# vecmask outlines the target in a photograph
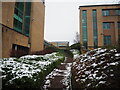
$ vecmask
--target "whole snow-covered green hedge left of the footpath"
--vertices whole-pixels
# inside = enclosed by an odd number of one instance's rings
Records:
[[[40,88],[45,76],[64,61],[60,53],[0,60],[3,88]]]

